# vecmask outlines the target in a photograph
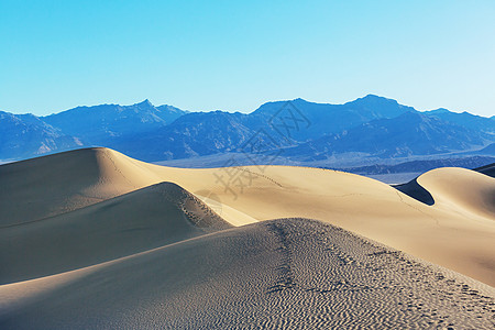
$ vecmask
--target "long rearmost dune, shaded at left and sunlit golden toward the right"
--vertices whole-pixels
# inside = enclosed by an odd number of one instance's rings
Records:
[[[468,169],[431,173],[418,178],[436,201],[428,206],[381,182],[336,170],[174,168],[107,148],[80,150],[0,166],[0,185],[7,187],[0,193],[0,223],[42,219],[170,182],[235,226],[316,219],[495,285],[495,179]]]

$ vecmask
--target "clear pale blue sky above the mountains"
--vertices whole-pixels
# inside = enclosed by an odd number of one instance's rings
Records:
[[[0,0],[0,110],[249,112],[366,94],[495,114],[495,1]]]

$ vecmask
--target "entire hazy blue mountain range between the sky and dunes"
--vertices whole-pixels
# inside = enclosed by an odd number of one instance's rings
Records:
[[[344,105],[267,102],[248,114],[189,112],[148,100],[46,117],[0,112],[2,161],[106,146],[147,162],[233,153],[330,163],[334,157],[495,155],[494,143],[495,117],[420,112],[374,95]]]

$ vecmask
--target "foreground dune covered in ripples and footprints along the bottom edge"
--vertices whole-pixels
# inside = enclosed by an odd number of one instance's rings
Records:
[[[304,219],[234,228],[77,272],[0,286],[8,301],[0,328],[495,326],[493,288]],[[59,276],[72,278],[29,296]]]

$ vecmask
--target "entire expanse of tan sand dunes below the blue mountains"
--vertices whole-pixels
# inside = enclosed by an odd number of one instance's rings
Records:
[[[89,148],[2,165],[0,187],[2,329],[493,326],[495,179],[473,170],[403,194]]]

